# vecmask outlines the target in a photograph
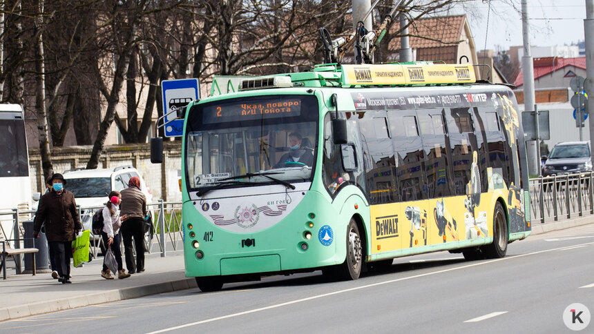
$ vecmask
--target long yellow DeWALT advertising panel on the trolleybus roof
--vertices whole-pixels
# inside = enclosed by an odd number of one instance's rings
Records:
[[[432,83],[472,83],[471,65],[343,65],[343,86],[415,85]]]

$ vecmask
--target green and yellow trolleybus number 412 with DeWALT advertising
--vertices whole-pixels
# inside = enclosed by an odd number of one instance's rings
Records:
[[[186,276],[202,291],[318,269],[357,279],[439,250],[504,257],[530,234],[516,99],[472,66],[218,77],[187,106],[182,145]]]

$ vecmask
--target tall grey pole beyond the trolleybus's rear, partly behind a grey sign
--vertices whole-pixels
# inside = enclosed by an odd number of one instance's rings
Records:
[[[528,26],[528,0],[521,0],[521,31],[524,39],[524,56],[521,57],[522,79],[524,80],[524,111],[535,108],[534,97],[534,65],[530,55],[530,27]],[[538,117],[536,115],[535,117]],[[540,157],[536,141],[526,141],[528,155],[528,174],[540,175]]]

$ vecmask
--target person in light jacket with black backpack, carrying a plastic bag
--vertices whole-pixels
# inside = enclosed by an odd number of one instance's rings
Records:
[[[119,216],[119,204],[122,202],[122,195],[117,191],[112,191],[108,195],[109,202],[107,202],[102,210],[103,215],[103,228],[101,230],[101,237],[103,238],[104,245],[111,246],[111,251],[115,255],[117,262],[117,278],[123,279],[130,277],[129,273],[126,273],[124,266],[122,265],[122,251],[119,249],[119,227],[122,226],[122,221],[126,220],[126,215]],[[93,217],[95,218],[95,217]],[[93,228],[97,227],[97,223],[93,219]],[[115,274],[115,273],[114,273]],[[101,271],[101,277],[104,279],[113,279],[109,268],[105,264],[105,257],[103,262],[103,270]]]

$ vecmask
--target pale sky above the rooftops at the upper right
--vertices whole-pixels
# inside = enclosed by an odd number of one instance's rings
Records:
[[[454,10],[466,12],[477,51],[523,44],[521,0],[490,0],[490,10],[488,0],[472,0]],[[584,40],[586,0],[528,0],[528,18],[531,46],[577,43]]]

